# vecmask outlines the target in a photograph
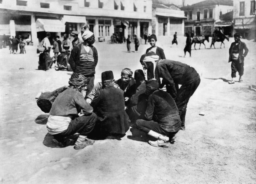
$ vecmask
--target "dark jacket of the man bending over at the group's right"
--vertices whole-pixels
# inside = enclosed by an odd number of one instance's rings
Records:
[[[161,59],[157,61],[156,78],[160,81],[163,78],[161,87],[164,84],[170,85],[172,97],[177,96],[178,85],[189,85],[200,79],[195,68],[190,67],[182,62]]]

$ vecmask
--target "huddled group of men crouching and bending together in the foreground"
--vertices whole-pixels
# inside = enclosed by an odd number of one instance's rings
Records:
[[[85,94],[88,78],[74,72],[69,88],[52,104],[47,122],[49,134],[65,146],[67,136],[79,133],[75,149],[93,144],[95,139],[119,139],[130,125],[157,138],[155,147],[168,147],[180,130],[185,130],[186,107],[200,84],[194,68],[182,62],[159,59],[154,52],[140,58],[147,70],[125,68],[121,79],[112,71],[102,73],[102,82]],[[181,85],[179,87],[179,85]],[[166,91],[161,90],[166,86]],[[90,139],[89,139],[89,138]]]

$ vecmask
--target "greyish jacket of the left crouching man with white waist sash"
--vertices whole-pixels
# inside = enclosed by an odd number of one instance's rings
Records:
[[[82,93],[72,88],[67,88],[62,93],[59,93],[53,102],[50,115],[75,117],[81,110],[83,110],[84,114],[93,112],[93,108],[85,101]]]

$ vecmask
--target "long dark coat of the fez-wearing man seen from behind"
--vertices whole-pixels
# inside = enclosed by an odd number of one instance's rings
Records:
[[[124,135],[129,130],[124,92],[121,89],[108,85],[96,93],[91,106],[98,116],[102,133]]]

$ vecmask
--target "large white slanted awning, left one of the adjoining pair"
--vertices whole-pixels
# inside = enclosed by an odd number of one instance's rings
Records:
[[[65,32],[65,25],[60,20],[37,19],[35,22],[36,31]]]

